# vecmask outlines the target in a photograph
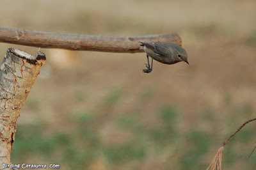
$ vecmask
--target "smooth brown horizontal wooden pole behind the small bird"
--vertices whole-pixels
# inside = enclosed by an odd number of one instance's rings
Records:
[[[46,33],[0,27],[0,42],[41,48],[93,50],[101,52],[143,52],[139,42],[173,42],[182,45],[177,33],[151,36],[93,36]]]

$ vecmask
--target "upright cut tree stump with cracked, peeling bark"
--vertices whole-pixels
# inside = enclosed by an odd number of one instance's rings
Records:
[[[31,56],[17,49],[8,49],[0,67],[0,169],[10,165],[17,118],[28,97],[45,55]]]

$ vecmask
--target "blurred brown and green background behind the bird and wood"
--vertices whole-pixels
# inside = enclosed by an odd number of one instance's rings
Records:
[[[256,117],[256,1],[1,1],[1,26],[104,36],[176,32],[186,63],[143,73],[145,53],[41,49],[47,65],[18,119],[15,164],[61,169],[206,169]],[[1,59],[15,47],[0,43]],[[225,146],[225,169],[256,169],[256,125]]]

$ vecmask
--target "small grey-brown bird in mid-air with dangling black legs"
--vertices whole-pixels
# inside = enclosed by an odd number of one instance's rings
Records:
[[[173,65],[179,63],[180,61],[185,61],[188,63],[188,54],[179,45],[172,42],[140,42],[141,48],[147,53],[148,56],[152,58],[151,66],[145,63],[147,69],[143,69],[144,73],[150,73],[152,71],[153,59],[164,63],[166,65]],[[189,65],[189,63],[188,63]]]

